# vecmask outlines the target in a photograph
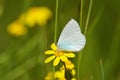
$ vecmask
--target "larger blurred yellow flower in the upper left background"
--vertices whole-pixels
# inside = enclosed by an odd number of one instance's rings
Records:
[[[47,7],[32,7],[26,13],[23,13],[19,20],[30,27],[36,24],[45,26],[47,21],[52,17],[52,12]]]

